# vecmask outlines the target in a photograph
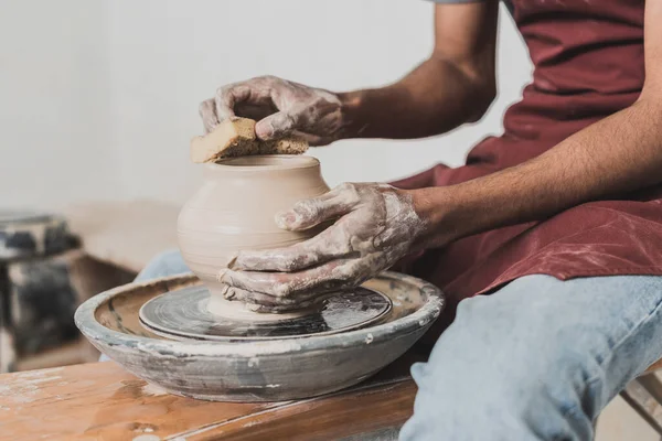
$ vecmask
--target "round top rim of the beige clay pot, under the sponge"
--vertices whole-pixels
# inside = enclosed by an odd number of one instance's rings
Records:
[[[317,158],[303,154],[254,154],[249,157],[226,158],[216,163],[205,164],[205,166],[209,170],[222,171],[223,173],[261,172],[319,168],[320,161]]]

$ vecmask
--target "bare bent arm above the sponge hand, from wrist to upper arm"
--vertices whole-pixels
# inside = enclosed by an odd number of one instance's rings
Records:
[[[345,138],[421,138],[480,119],[496,94],[499,3],[437,4],[435,49],[399,82],[340,94]]]

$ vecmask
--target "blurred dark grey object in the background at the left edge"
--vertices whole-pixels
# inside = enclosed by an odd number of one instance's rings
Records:
[[[62,217],[0,211],[0,372],[77,338],[73,313],[82,299],[58,258],[77,246]]]

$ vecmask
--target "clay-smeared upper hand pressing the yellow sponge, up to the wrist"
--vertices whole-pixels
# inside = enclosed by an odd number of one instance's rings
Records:
[[[222,86],[200,105],[205,132],[233,116],[257,120],[255,133],[269,140],[297,135],[311,146],[339,139],[343,127],[341,101],[328,90],[260,76]]]

